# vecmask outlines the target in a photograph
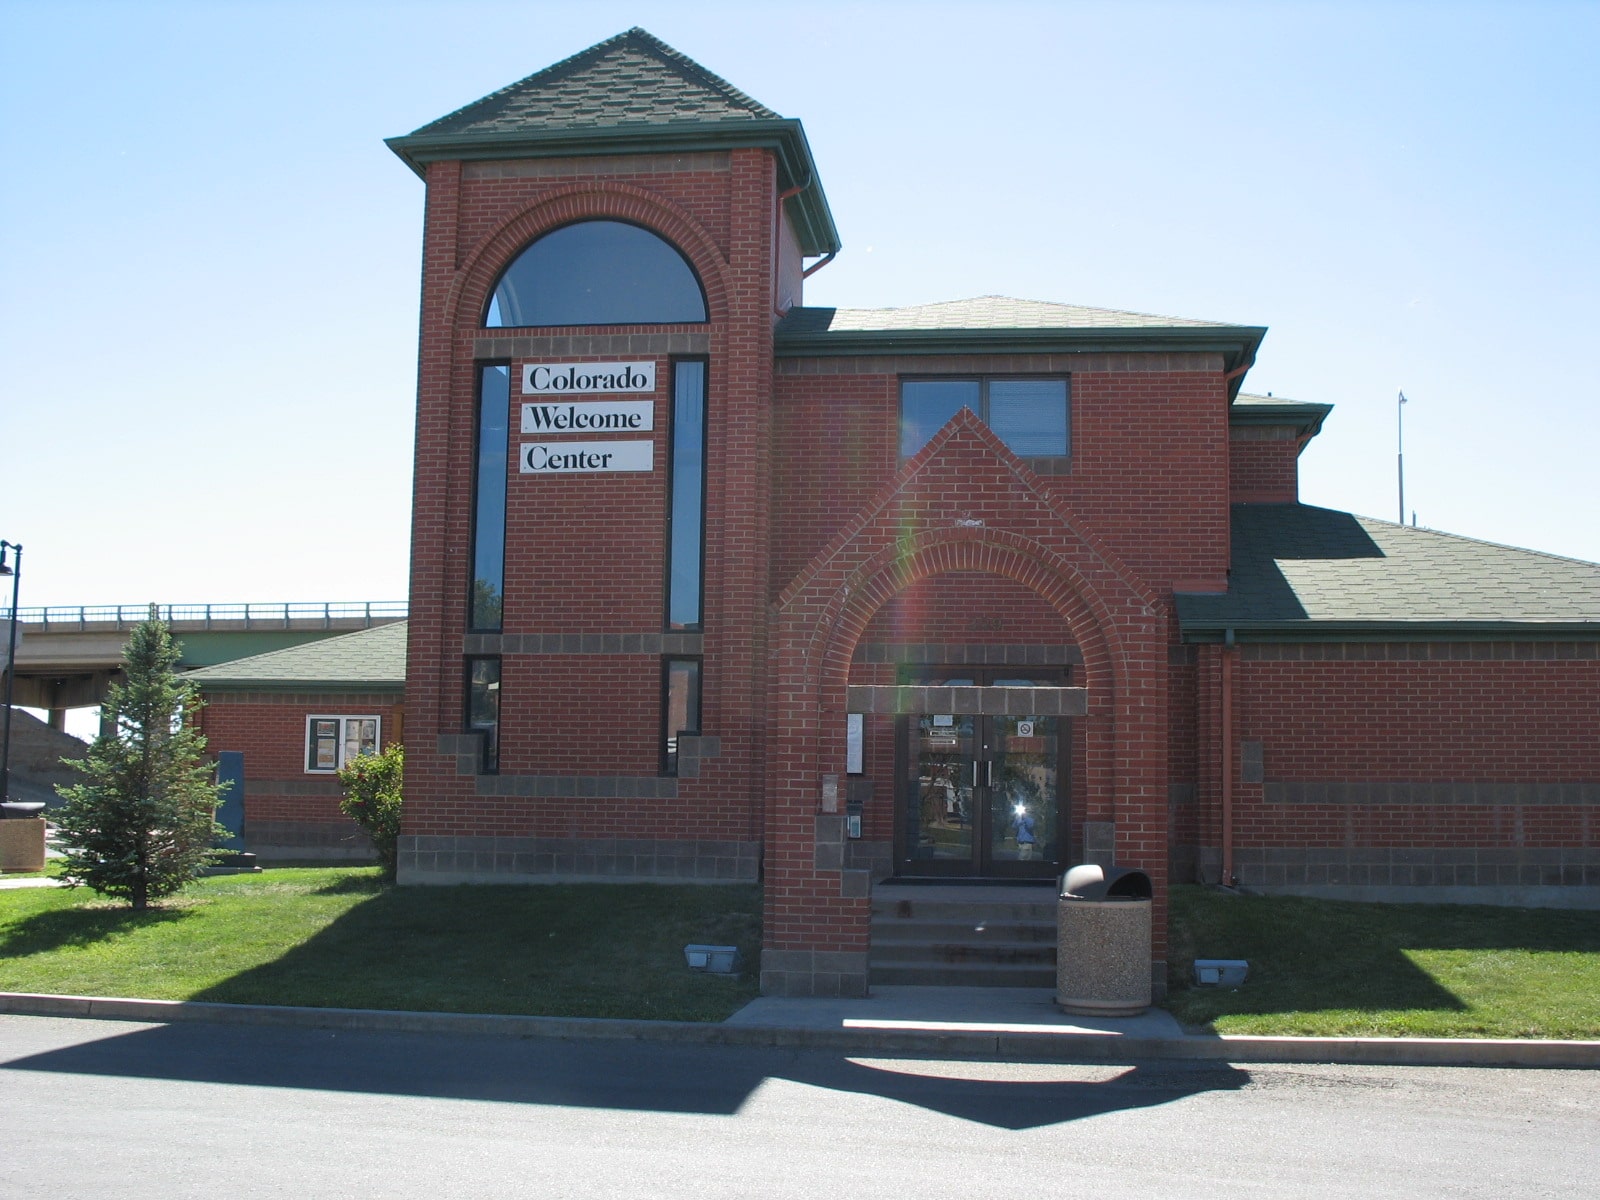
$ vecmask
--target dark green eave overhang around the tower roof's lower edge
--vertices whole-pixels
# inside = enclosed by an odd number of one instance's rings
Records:
[[[739,122],[682,122],[619,125],[589,130],[515,130],[507,133],[408,133],[386,138],[413,171],[427,179],[429,163],[502,158],[570,158],[606,154],[693,154],[698,150],[771,150],[778,160],[778,190],[800,190],[784,211],[806,258],[840,250],[834,214],[822,194],[811,146],[790,117]]]

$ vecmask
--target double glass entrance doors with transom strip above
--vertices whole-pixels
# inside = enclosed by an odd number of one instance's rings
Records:
[[[1059,675],[918,672],[934,686],[1061,686]],[[901,717],[896,874],[1048,877],[1061,864],[1062,717]]]

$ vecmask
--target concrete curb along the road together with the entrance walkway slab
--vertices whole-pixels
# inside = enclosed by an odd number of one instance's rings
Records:
[[[1600,1067],[1600,1042],[1490,1038],[1216,1037],[1186,1034],[1152,1010],[1122,1021],[1051,1011],[1048,989],[883,987],[866,1000],[763,997],[722,1024],[608,1021],[366,1008],[216,1005],[0,992],[0,1013],[106,1021],[210,1021],[307,1029],[613,1038],[718,1046],[790,1046],[848,1054],[917,1054],[1021,1062],[1365,1062],[1462,1067]]]

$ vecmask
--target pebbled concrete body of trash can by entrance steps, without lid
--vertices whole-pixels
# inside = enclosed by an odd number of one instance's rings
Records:
[[[1075,1016],[1138,1016],[1150,1006],[1150,901],[1061,899],[1056,1005]]]

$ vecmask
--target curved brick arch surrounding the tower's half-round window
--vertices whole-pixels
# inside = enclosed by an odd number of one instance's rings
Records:
[[[715,240],[685,210],[670,200],[629,184],[574,184],[541,195],[526,208],[506,218],[462,261],[445,298],[450,328],[459,328],[461,314],[472,314],[474,328],[488,304],[494,280],[530,243],[574,221],[627,221],[643,226],[677,246],[694,267],[706,290],[707,323],[728,315],[728,261]]]

